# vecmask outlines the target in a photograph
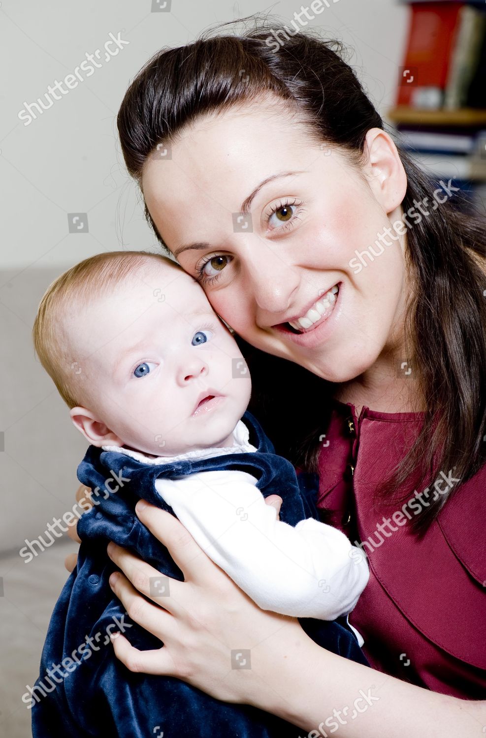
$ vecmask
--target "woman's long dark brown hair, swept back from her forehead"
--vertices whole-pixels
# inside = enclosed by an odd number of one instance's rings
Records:
[[[241,35],[223,35],[228,24],[222,24],[217,35],[205,32],[194,43],[160,50],[134,78],[117,127],[126,166],[139,184],[157,144],[174,140],[196,117],[251,105],[269,94],[299,112],[311,137],[339,145],[352,165],[366,157],[366,132],[383,128],[383,121],[344,61],[340,44],[324,41],[315,31],[285,31],[256,16],[238,22],[244,21],[254,26]],[[426,197],[431,201],[434,186],[403,152],[401,159],[408,179],[403,210],[408,211]],[[419,376],[427,410],[414,446],[404,450],[403,460],[377,491],[395,504],[394,493],[412,476],[417,480],[417,469],[423,470],[420,482],[431,483],[440,470],[447,474],[450,469],[465,482],[485,463],[485,231],[479,220],[462,215],[450,202],[430,212],[408,230],[406,252],[414,277],[407,358]],[[147,207],[145,213],[168,251]],[[298,365],[257,351],[242,339],[239,343],[253,377],[250,409],[278,452],[315,470],[332,387]],[[411,497],[411,490],[406,492],[403,500]],[[437,517],[448,494],[414,518],[417,533]]]

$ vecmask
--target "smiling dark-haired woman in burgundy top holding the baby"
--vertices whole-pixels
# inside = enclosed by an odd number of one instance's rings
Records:
[[[256,415],[278,452],[320,470],[318,506],[369,556],[349,622],[374,671],[259,610],[177,520],[141,505],[185,582],[162,609],[155,570],[110,545],[114,592],[165,644],[137,652],[120,635],[117,657],[309,736],[482,734],[482,227],[455,210],[451,182],[434,190],[398,154],[310,32],[159,52],[117,123],[157,238],[242,341]],[[251,669],[229,668],[233,648]]]

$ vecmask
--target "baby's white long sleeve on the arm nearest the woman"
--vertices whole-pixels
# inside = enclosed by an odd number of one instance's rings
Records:
[[[263,610],[334,620],[351,612],[366,587],[369,568],[360,549],[318,520],[295,527],[277,520],[247,472],[159,478],[155,489],[206,554]]]

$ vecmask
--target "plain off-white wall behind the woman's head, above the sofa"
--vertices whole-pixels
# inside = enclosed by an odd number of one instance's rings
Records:
[[[309,26],[355,47],[352,63],[382,113],[391,106],[404,44],[407,9],[395,0],[338,0]],[[310,2],[307,3],[307,6]],[[270,4],[268,7],[272,7]],[[289,24],[301,5],[273,5]],[[172,0],[151,13],[151,0],[34,0],[1,4],[0,267],[69,266],[103,249],[146,248],[154,242],[117,146],[115,118],[129,80],[150,55],[192,41],[217,21],[264,10],[261,0]],[[129,44],[61,97],[30,125],[24,103],[42,97],[101,49],[109,32]],[[67,213],[88,213],[89,233],[69,234]],[[21,279],[21,275],[16,277]]]

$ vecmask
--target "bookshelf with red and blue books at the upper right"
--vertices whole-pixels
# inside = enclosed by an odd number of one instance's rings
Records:
[[[408,37],[386,114],[397,143],[432,180],[486,207],[486,2],[397,0]]]

